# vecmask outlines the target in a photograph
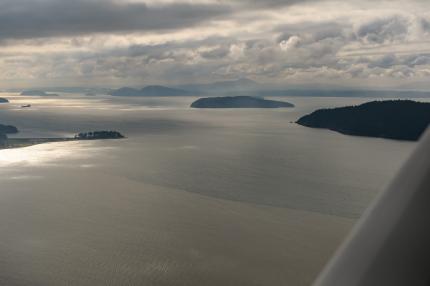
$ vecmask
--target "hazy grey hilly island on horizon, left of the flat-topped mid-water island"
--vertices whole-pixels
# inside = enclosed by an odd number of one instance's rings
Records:
[[[149,85],[142,89],[131,87],[122,87],[110,92],[112,96],[187,96],[191,95],[189,91],[170,88],[161,85]]]

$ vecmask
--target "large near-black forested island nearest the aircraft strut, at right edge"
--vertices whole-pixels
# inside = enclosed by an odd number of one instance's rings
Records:
[[[416,141],[430,124],[430,103],[372,101],[358,106],[320,109],[298,124],[347,135]]]

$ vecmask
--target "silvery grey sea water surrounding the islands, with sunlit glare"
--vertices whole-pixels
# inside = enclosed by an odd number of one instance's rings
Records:
[[[416,145],[293,123],[366,98],[2,97],[18,137],[127,136],[0,150],[4,285],[309,285]]]

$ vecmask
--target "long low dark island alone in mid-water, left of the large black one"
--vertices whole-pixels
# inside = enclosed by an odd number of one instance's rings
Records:
[[[252,96],[205,97],[194,101],[192,108],[282,108],[294,107],[284,101],[268,100]]]

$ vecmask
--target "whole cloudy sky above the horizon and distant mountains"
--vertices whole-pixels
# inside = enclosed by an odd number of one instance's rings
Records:
[[[428,0],[0,0],[0,88],[430,90]]]

